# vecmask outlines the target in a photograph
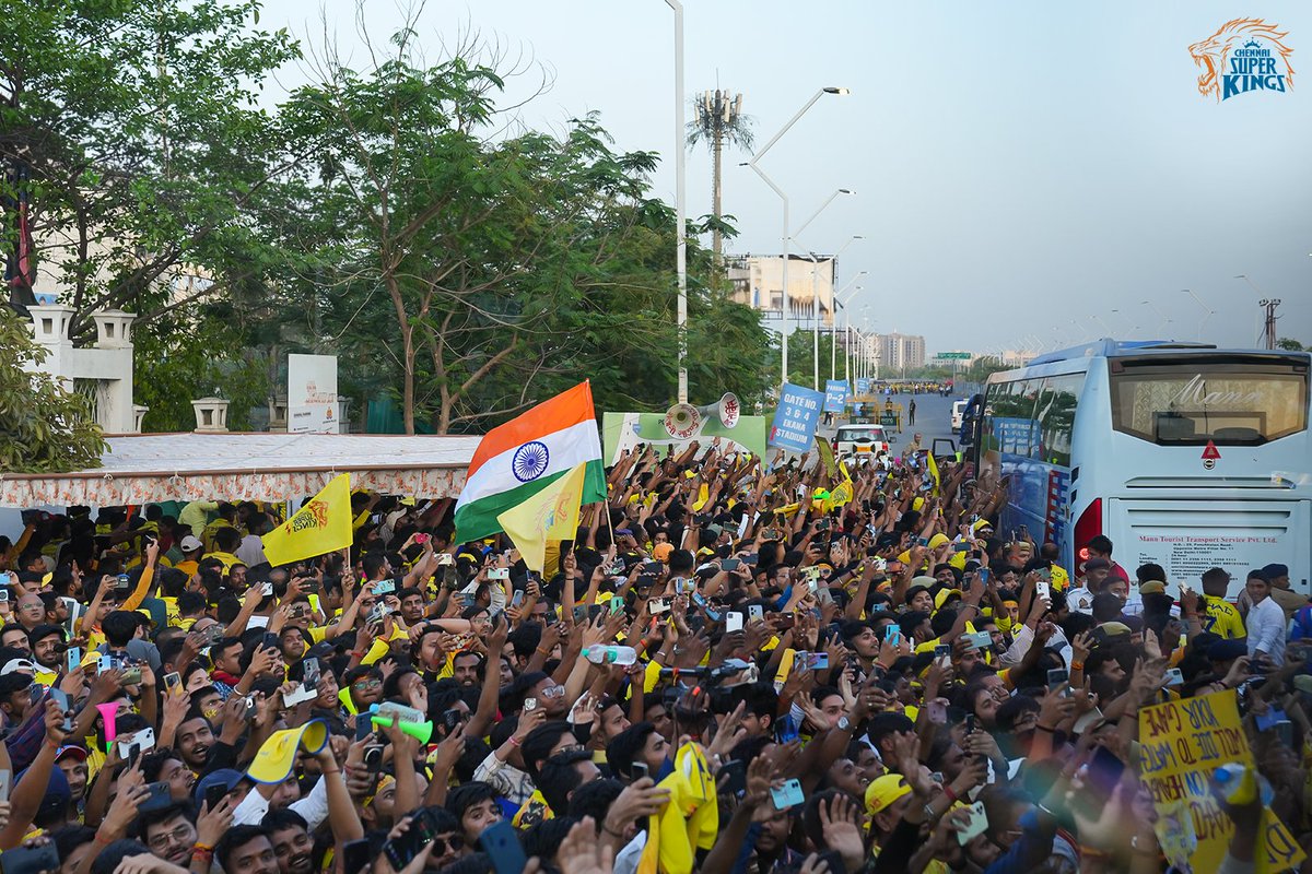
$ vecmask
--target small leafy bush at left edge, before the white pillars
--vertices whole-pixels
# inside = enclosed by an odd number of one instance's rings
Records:
[[[0,470],[62,473],[98,468],[105,449],[91,401],[47,373],[28,372],[46,350],[25,318],[0,307]]]

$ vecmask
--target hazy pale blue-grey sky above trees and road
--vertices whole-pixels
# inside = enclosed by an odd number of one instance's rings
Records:
[[[1215,311],[1204,339],[1252,346],[1261,295],[1235,278],[1248,274],[1283,299],[1279,334],[1312,343],[1312,4],[685,3],[687,96],[743,92],[758,144],[819,88],[851,89],[817,102],[762,166],[794,227],[836,189],[857,191],[803,242],[866,237],[838,284],[869,271],[851,312],[875,329],[924,334],[930,351],[1051,347],[1105,335],[1097,314],[1118,337],[1194,339],[1191,288]],[[386,38],[399,8],[367,0],[370,34]],[[353,0],[269,4],[262,24],[318,43],[321,10],[362,67]],[[1288,31],[1294,88],[1203,98],[1189,46],[1244,16]],[[433,56],[474,28],[546,68],[529,126],[597,110],[618,148],[672,156],[673,18],[664,0],[429,0],[419,31]],[[510,98],[535,84],[517,79]],[[779,200],[743,160],[726,159],[724,210],[741,231],[729,248],[778,252]],[[672,160],[653,183],[673,202]],[[697,149],[687,212],[710,208]]]

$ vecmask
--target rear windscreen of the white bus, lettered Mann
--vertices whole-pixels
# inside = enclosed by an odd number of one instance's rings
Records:
[[[1111,426],[1157,446],[1261,446],[1308,426],[1308,368],[1232,356],[1117,358]]]

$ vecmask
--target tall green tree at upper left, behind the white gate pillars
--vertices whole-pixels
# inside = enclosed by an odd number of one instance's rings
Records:
[[[152,425],[180,423],[164,406],[214,388],[182,379],[207,379],[203,367],[165,376],[157,356],[186,351],[180,332],[195,330],[203,301],[273,294],[283,253],[270,228],[297,220],[279,183],[297,156],[256,101],[298,51],[260,30],[258,12],[257,0],[50,0],[0,16],[0,164],[26,173],[37,291],[75,309],[76,345],[94,341],[94,311],[138,314]],[[0,194],[18,194],[5,178]],[[180,398],[152,389],[164,379]]]

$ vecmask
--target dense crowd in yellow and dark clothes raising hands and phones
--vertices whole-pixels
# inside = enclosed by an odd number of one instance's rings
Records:
[[[1305,846],[1288,571],[1064,567],[971,474],[640,448],[541,574],[445,499],[356,494],[349,550],[281,567],[258,503],[30,512],[0,867],[1160,871],[1139,713],[1228,689],[1266,791],[1212,788],[1224,870],[1262,815]]]

